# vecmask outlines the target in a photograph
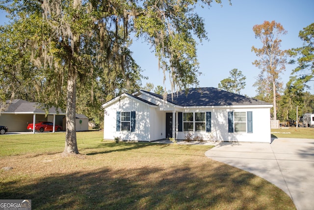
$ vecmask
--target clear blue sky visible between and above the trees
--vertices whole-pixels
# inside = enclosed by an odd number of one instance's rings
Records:
[[[198,9],[198,13],[205,19],[209,41],[204,40],[198,44],[198,61],[200,71],[200,87],[218,87],[221,80],[229,77],[230,70],[237,68],[246,76],[246,87],[241,94],[255,96],[255,88],[252,87],[260,69],[252,65],[256,55],[251,48],[261,47],[262,43],[255,39],[252,30],[254,25],[262,24],[265,20],[275,20],[281,23],[288,31],[283,35],[282,50],[302,46],[298,37],[299,31],[314,23],[314,0],[232,0],[232,6],[228,0],[222,0],[223,7],[213,2],[209,9]],[[0,10],[0,24],[5,22],[5,13]],[[163,85],[163,73],[158,70],[157,58],[146,43],[142,40],[133,40],[131,46],[133,58],[141,66],[142,74],[149,77],[143,80],[157,85]],[[286,71],[281,79],[286,84],[291,70],[295,66],[287,64]],[[309,90],[314,94],[314,82]],[[285,86],[285,85],[284,85]],[[166,79],[165,87],[170,89],[169,79]]]

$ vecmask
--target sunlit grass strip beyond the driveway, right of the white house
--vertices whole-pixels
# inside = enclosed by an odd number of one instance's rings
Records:
[[[284,127],[271,129],[272,138],[301,138],[314,139],[314,128],[311,127]]]

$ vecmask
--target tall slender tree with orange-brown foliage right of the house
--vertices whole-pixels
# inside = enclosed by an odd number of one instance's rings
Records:
[[[260,58],[260,60],[255,60],[253,64],[261,69],[262,78],[267,83],[266,87],[271,89],[274,105],[273,120],[277,120],[276,96],[278,93],[277,88],[281,85],[279,74],[286,69],[285,64],[287,63],[287,52],[280,49],[281,39],[279,37],[286,34],[287,31],[280,23],[275,21],[264,21],[261,25],[255,25],[253,31],[255,38],[260,39],[262,42],[262,48],[252,46],[252,52]]]

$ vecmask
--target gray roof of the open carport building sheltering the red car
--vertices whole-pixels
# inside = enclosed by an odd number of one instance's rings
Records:
[[[6,101],[7,108],[3,113],[46,113],[46,111],[40,108],[40,104],[37,102],[28,102],[22,99],[14,99],[12,101]],[[54,107],[48,110],[49,113],[56,113]],[[64,114],[60,109],[58,109],[59,114]]]

